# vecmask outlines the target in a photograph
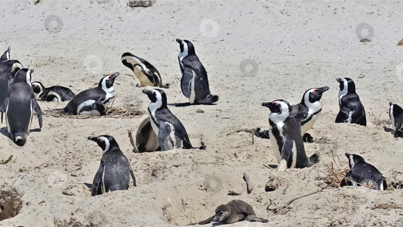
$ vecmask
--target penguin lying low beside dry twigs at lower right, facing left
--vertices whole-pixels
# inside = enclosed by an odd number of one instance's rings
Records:
[[[375,190],[384,190],[386,188],[386,180],[373,165],[366,163],[364,158],[360,155],[346,153],[350,171],[347,173],[346,178],[349,186],[371,186]],[[371,182],[371,183],[370,183]]]

